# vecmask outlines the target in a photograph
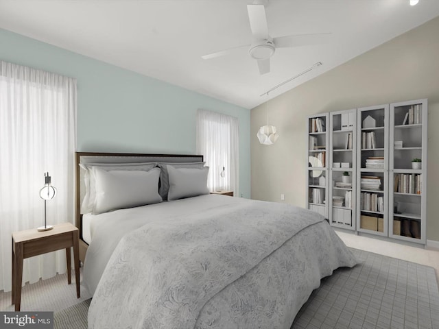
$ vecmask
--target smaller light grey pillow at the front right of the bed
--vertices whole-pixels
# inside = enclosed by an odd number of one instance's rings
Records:
[[[203,167],[202,169],[174,168],[169,164],[166,167],[169,177],[168,200],[209,194],[209,188],[207,188],[209,167]]]

